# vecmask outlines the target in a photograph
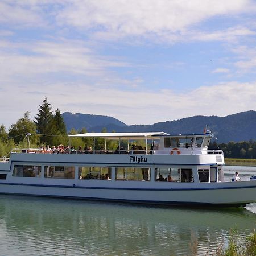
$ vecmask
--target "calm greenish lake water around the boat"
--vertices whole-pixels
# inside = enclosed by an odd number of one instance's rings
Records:
[[[242,180],[256,167],[225,166]],[[90,201],[0,195],[0,255],[199,255],[226,245],[230,228],[240,238],[256,229],[256,204],[246,208],[145,207]]]

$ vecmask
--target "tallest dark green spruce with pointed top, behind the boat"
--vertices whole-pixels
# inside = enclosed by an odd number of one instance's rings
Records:
[[[36,131],[41,135],[40,143],[42,144],[52,144],[51,135],[56,135],[56,125],[50,105],[47,102],[47,97],[44,98],[43,104],[39,108],[39,114],[36,114],[34,121]]]

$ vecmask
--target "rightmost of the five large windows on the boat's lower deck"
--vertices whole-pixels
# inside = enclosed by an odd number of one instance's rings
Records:
[[[193,182],[192,169],[155,168],[155,181]]]

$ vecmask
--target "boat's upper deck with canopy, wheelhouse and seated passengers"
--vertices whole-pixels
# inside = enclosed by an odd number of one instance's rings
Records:
[[[25,157],[24,154],[36,154],[37,156],[33,156],[33,159],[50,160],[55,158],[58,159],[59,161],[71,161],[71,159],[76,159],[76,161],[79,162],[81,157],[75,157],[75,155],[87,154],[86,156],[84,155],[82,159],[88,159],[88,161],[92,159],[97,159],[97,162],[101,162],[104,160],[105,163],[138,163],[138,159],[144,158],[147,159],[148,164],[156,162],[173,164],[224,164],[224,156],[221,150],[208,150],[210,139],[212,139],[213,137],[213,134],[210,133],[210,131],[208,131],[205,134],[188,135],[170,135],[163,132],[75,134],[69,135],[69,138],[71,139],[69,144],[72,144],[73,137],[93,137],[94,143],[92,147],[85,147],[84,149],[68,148],[65,150],[43,150],[42,148],[27,148],[23,150],[13,149],[11,153],[13,153],[12,155],[16,155],[15,159],[31,159],[30,156]],[[104,148],[96,149],[95,138],[97,137],[105,139]],[[118,141],[118,147],[115,150],[110,150],[109,148],[106,147],[107,140]],[[124,145],[124,143],[121,143],[124,141],[126,146],[121,146]],[[141,144],[144,145],[143,147],[139,146],[140,141],[142,141]],[[18,156],[17,154],[19,153],[23,153],[22,156]],[[48,154],[52,154],[52,156],[49,157]],[[56,154],[58,156],[56,156]],[[67,154],[72,154],[71,158],[67,157]],[[40,157],[40,155],[42,155],[42,157]],[[98,156],[94,155],[101,155],[101,157],[98,158]],[[122,158],[121,156],[117,157],[117,155],[122,155]],[[2,163],[8,161],[9,158],[7,157],[0,159],[0,162]],[[144,163],[146,163],[146,161]]]

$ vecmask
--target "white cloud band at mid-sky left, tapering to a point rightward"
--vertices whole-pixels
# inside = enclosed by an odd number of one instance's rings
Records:
[[[54,72],[103,76],[107,67],[128,65],[96,55],[84,43],[72,40],[31,44],[1,41],[0,53],[2,79],[13,75],[31,77]]]

